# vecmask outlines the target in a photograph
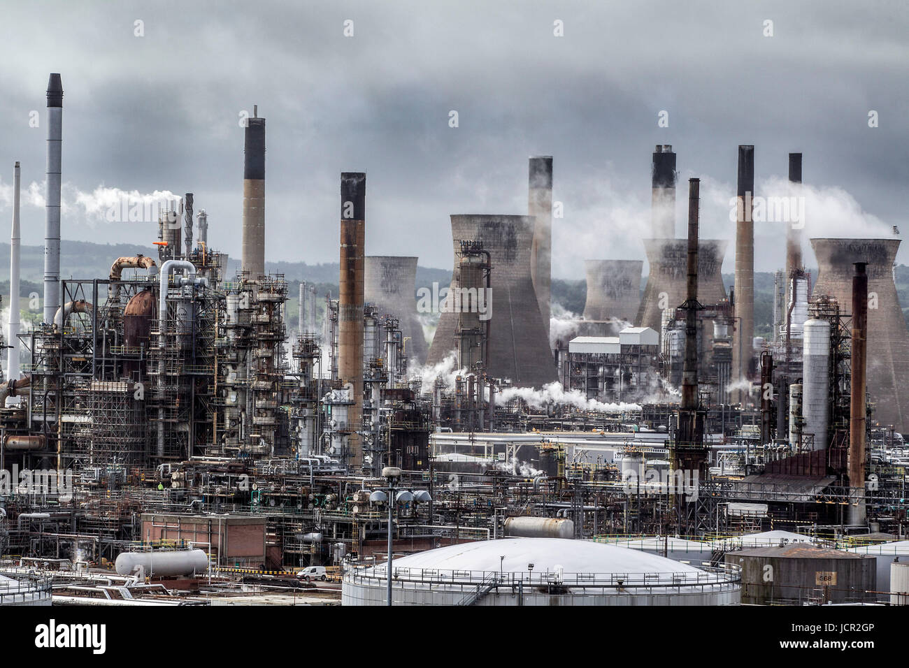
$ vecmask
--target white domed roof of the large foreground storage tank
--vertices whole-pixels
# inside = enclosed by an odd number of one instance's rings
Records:
[[[504,560],[501,557],[504,555]],[[565,538],[502,538],[448,545],[395,559],[395,568],[526,573],[702,573],[686,563],[615,545]]]

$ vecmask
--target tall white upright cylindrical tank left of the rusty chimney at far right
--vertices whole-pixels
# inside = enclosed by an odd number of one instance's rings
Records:
[[[830,397],[830,323],[811,319],[804,324],[802,415],[804,434],[814,434],[814,450],[827,447]]]

